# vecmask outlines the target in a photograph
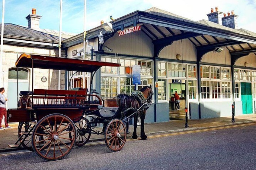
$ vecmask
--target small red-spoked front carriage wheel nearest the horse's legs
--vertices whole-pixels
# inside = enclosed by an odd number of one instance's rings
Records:
[[[105,130],[105,143],[108,149],[119,151],[126,142],[126,128],[120,119],[111,120]]]

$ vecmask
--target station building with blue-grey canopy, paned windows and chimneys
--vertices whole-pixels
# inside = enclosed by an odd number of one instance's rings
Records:
[[[154,7],[135,11],[111,21],[112,32],[105,24],[88,30],[85,47],[83,33],[62,46],[69,58],[82,58],[85,48],[85,59],[121,64],[96,73],[93,88],[104,98],[152,85],[145,122],[184,119],[185,107],[189,119],[232,116],[232,104],[235,115],[255,113],[256,33],[238,29],[234,11],[226,14],[216,7],[209,12],[209,20],[193,21]],[[138,85],[133,84],[133,65],[140,66]],[[73,74],[69,88],[88,87],[88,75]],[[180,110],[175,109],[175,91]]]

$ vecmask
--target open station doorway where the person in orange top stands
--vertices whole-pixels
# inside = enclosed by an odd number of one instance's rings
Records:
[[[185,80],[169,79],[168,80],[169,91],[169,118],[170,120],[185,119],[185,107],[186,107],[186,83]],[[175,106],[174,94],[177,91],[180,97],[180,110]]]

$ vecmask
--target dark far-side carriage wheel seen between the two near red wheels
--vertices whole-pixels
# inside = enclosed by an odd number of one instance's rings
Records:
[[[90,139],[91,133],[88,133],[89,120],[83,117],[78,122],[74,122],[76,127],[76,141],[75,146],[84,146]],[[70,136],[69,136],[70,137]]]

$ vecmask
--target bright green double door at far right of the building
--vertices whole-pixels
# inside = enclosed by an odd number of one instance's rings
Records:
[[[251,83],[241,83],[243,114],[252,113]]]

